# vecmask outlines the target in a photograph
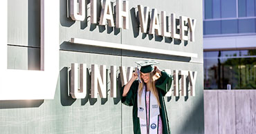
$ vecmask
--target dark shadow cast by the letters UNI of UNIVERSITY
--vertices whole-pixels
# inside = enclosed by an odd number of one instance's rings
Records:
[[[69,75],[68,75],[69,74]],[[81,105],[84,106],[86,103],[89,102],[90,105],[94,105],[97,101],[98,98],[91,98],[91,75],[89,73],[89,69],[86,68],[86,97],[84,99],[81,99]],[[110,73],[109,73],[110,75]],[[71,95],[68,95],[68,89],[71,89],[71,87],[68,87],[68,85],[71,85],[71,81],[69,81],[68,84],[68,79],[71,79],[71,77],[68,78],[68,76],[71,76],[71,71],[68,70],[67,67],[62,68],[60,70],[60,102],[62,106],[71,106],[76,99],[73,99]],[[117,79],[117,89],[120,89],[120,77]],[[107,91],[108,94],[110,94],[110,90]],[[109,95],[107,95],[109,96]],[[109,98],[101,98],[100,103],[104,105]],[[117,97],[113,98],[113,103],[118,104],[120,102],[120,90],[117,92]]]

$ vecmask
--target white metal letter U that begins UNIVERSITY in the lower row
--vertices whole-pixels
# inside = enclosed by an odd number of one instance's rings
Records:
[[[86,69],[86,64],[80,64],[80,68],[78,64],[71,64],[71,96],[74,99],[86,97],[86,70],[84,68]]]

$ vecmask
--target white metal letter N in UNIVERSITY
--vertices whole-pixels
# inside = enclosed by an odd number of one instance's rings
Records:
[[[101,98],[107,98],[106,66],[91,65],[91,98],[97,98],[98,92]]]

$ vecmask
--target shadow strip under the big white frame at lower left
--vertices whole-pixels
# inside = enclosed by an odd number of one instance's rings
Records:
[[[39,100],[1,100],[0,109],[6,108],[37,108],[44,103],[44,99]]]

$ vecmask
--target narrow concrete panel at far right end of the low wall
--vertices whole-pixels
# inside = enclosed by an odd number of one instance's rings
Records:
[[[256,90],[250,90],[250,134],[256,133]]]

